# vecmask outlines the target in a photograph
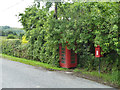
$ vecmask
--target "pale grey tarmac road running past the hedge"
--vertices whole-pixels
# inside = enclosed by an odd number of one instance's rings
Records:
[[[42,68],[0,58],[2,88],[111,88],[60,71]]]

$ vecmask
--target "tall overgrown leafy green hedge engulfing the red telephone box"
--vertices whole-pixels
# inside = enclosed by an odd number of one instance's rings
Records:
[[[54,11],[48,11],[50,4],[46,5],[46,8],[39,9],[39,4],[34,4],[19,14],[29,42],[15,49],[9,44],[12,50],[3,42],[3,47],[9,48],[7,50],[2,47],[3,53],[59,66],[61,43],[63,47],[67,45],[68,49],[78,54],[79,68],[97,70],[98,60],[94,54],[95,46],[100,45],[104,55],[101,58],[101,71],[118,72],[119,3],[57,3],[58,19],[53,17]],[[118,73],[115,75],[117,77]]]

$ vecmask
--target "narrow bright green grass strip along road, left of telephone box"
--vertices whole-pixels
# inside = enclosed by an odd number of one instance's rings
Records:
[[[39,61],[27,60],[24,58],[13,57],[13,56],[5,55],[5,54],[0,54],[0,57],[7,58],[7,59],[12,60],[12,61],[17,61],[17,62],[21,62],[24,64],[32,65],[32,66],[43,67],[43,68],[49,69],[49,70],[59,70],[59,71],[68,70],[66,68],[55,67],[55,66],[52,66],[50,64],[42,63]]]

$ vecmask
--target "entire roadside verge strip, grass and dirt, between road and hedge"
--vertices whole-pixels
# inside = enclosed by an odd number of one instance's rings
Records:
[[[77,68],[76,69],[58,68],[58,67],[54,67],[54,66],[51,66],[49,64],[41,63],[38,61],[12,57],[12,56],[5,55],[5,54],[0,55],[0,57],[7,58],[7,59],[12,60],[12,61],[17,61],[17,62],[21,62],[24,64],[32,65],[32,66],[35,66],[36,68],[43,67],[44,69],[49,70],[49,71],[60,71],[60,72],[63,72],[63,73],[69,74],[69,75],[82,77],[85,79],[89,79],[92,81],[96,81],[98,83],[102,83],[104,85],[109,85],[111,87],[115,87],[115,88],[120,89],[120,86],[118,86],[117,84],[113,84],[108,80],[105,80],[106,76],[103,75],[102,73],[99,75],[98,72],[96,72],[96,71],[88,72],[84,69],[77,69]],[[94,75],[93,75],[93,73],[94,73]],[[107,77],[110,78],[110,75],[107,75]]]

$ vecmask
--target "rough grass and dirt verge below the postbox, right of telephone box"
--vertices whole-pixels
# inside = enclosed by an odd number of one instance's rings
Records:
[[[80,77],[90,79],[90,80],[120,89],[120,83],[118,81],[118,72],[98,73],[98,71],[87,71],[85,69],[78,69],[78,68],[74,69],[73,72],[75,72],[76,75],[77,73],[81,73],[82,76]]]

